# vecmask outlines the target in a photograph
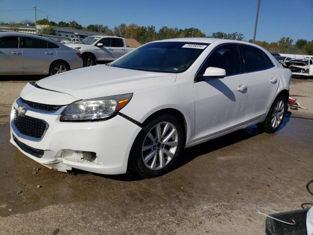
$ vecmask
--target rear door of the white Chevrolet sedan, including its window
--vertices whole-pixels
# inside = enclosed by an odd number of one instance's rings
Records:
[[[246,120],[264,115],[279,85],[279,72],[266,53],[257,47],[241,45],[248,86]]]

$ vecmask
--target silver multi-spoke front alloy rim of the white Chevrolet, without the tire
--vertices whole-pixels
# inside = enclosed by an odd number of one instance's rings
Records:
[[[170,122],[157,123],[146,135],[142,145],[142,160],[152,170],[164,168],[178,149],[177,128]]]

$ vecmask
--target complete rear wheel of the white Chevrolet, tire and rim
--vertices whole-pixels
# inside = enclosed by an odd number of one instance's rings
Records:
[[[270,107],[265,121],[257,124],[258,129],[266,133],[276,132],[284,120],[287,108],[288,106],[285,96],[278,96]]]

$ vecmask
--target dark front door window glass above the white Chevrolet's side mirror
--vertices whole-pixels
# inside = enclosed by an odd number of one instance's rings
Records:
[[[216,48],[203,65],[200,74],[203,74],[208,67],[224,69],[226,76],[243,72],[238,46],[228,44]]]

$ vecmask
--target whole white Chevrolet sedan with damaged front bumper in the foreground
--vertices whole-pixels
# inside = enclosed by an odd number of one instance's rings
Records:
[[[254,44],[156,41],[110,65],[28,83],[12,107],[10,142],[64,172],[156,177],[183,148],[253,124],[278,130],[290,80],[291,71]]]

